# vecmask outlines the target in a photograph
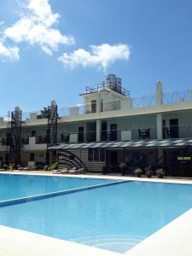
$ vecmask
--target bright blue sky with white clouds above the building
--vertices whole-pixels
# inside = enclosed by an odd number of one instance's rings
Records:
[[[192,88],[191,0],[0,0],[0,114],[82,103],[106,73],[131,96]],[[91,45],[95,47],[91,48]]]

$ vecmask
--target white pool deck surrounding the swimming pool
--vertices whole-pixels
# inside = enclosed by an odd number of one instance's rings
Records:
[[[0,172],[18,173],[18,172]],[[53,175],[22,172],[27,175]],[[56,175],[60,176],[60,175]],[[61,175],[63,177],[63,175]],[[68,175],[67,175],[68,176]],[[72,177],[73,175],[70,175]],[[77,177],[77,175],[75,175]],[[108,175],[78,175],[78,177],[102,177],[160,183],[192,184],[191,179],[114,177]],[[13,212],[14,218],[14,212]],[[191,256],[192,255],[192,209],[174,219],[162,229],[148,236],[128,252],[113,253],[96,247],[41,236],[24,230],[0,226],[0,256]]]

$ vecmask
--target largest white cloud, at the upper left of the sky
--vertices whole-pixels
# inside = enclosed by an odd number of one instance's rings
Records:
[[[21,15],[14,26],[4,31],[7,38],[15,43],[38,44],[45,53],[52,55],[60,44],[74,44],[74,38],[62,35],[53,26],[58,23],[59,15],[53,14],[49,0],[29,0],[23,2],[26,13]]]

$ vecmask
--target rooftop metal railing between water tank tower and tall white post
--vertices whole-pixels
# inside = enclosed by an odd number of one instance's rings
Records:
[[[156,94],[132,98],[132,108],[154,107],[156,105]]]

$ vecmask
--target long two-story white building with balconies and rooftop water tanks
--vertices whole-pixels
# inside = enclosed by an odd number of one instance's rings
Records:
[[[57,110],[53,101],[48,113],[15,108],[10,117],[0,118],[1,163],[14,155],[12,161],[41,167],[49,152],[61,167],[85,166],[90,172],[102,172],[104,164],[119,172],[126,162],[192,176],[191,90],[165,93],[159,81],[155,94],[131,97],[121,79],[108,74],[81,96],[81,106]]]

